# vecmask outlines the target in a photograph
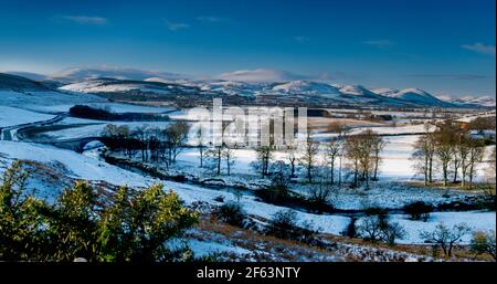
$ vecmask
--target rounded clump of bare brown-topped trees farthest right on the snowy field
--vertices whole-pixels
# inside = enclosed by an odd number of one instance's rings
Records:
[[[484,159],[485,143],[474,138],[467,128],[450,120],[437,125],[433,133],[429,129],[426,125],[426,134],[415,143],[413,154],[424,183],[434,182],[435,173],[440,172],[444,186],[461,181],[462,187],[472,188],[477,165]]]

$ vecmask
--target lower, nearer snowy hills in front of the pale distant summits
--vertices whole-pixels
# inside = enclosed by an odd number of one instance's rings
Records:
[[[475,107],[495,106],[495,99],[446,98],[441,99],[423,90],[393,88],[370,90],[362,85],[329,84],[326,82],[297,80],[288,82],[243,82],[226,80],[187,80],[147,77],[138,80],[91,78],[66,84],[61,90],[81,93],[147,92],[158,95],[221,95],[248,99],[257,97],[295,98],[300,103],[398,106],[398,107]]]

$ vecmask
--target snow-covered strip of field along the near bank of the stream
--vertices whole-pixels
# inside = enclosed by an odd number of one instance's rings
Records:
[[[36,155],[32,155],[36,152]],[[159,182],[157,179],[144,177],[141,175],[130,172],[118,167],[108,165],[95,158],[78,155],[74,151],[57,149],[49,146],[40,146],[27,143],[0,141],[0,161],[10,162],[12,159],[30,159],[41,162],[59,161],[63,164],[71,176],[74,178],[82,178],[87,180],[104,180],[113,185],[127,183],[131,187],[146,187],[154,182]],[[178,192],[181,199],[187,203],[194,201],[204,201],[211,204],[219,204],[214,201],[215,197],[222,196],[225,201],[235,201],[236,197],[233,193],[202,188],[187,183],[179,183],[172,181],[161,181],[167,189]],[[50,188],[39,189],[50,190]],[[267,204],[256,201],[252,196],[243,196],[241,201],[248,214],[271,219],[274,213],[285,209],[283,207]],[[410,234],[401,240],[405,243],[417,243],[419,231],[431,230],[437,222],[444,221],[447,223],[467,222],[474,230],[490,230],[496,225],[495,212],[438,212],[433,213],[427,222],[410,221],[404,215],[393,215],[405,225]],[[298,212],[300,221],[309,221],[315,228],[322,229],[322,232],[338,234],[349,223],[350,219],[343,215],[327,215],[327,214],[311,214],[306,212]]]

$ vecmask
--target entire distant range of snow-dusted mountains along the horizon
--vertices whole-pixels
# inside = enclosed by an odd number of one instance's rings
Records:
[[[225,73],[214,78],[192,78],[175,73],[134,69],[68,69],[47,76],[15,72],[0,74],[0,88],[54,90],[140,94],[175,99],[188,96],[221,96],[231,102],[367,107],[495,107],[495,97],[434,96],[423,90],[368,88],[329,84],[271,70]]]

